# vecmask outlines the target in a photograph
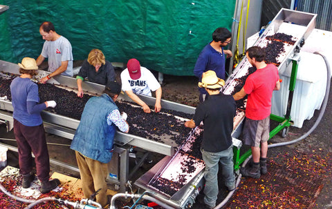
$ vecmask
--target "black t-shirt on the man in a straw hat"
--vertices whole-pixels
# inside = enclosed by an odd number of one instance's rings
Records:
[[[221,152],[232,145],[233,119],[236,103],[232,95],[213,94],[195,110],[194,122],[203,121],[201,147],[208,152]]]

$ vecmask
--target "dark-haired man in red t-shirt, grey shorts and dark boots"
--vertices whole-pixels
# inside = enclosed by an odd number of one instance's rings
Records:
[[[270,113],[273,90],[280,89],[278,69],[266,64],[264,49],[252,46],[246,51],[249,63],[257,70],[248,76],[243,88],[234,94],[239,100],[248,94],[246,121],[243,127],[243,143],[251,146],[252,166],[241,168],[243,177],[259,179],[268,172],[266,157],[270,133]],[[260,146],[260,148],[259,148]]]

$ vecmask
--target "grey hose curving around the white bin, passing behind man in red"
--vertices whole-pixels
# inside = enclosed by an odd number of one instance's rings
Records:
[[[325,97],[324,97],[324,100],[323,100],[323,103],[322,103],[322,108],[320,110],[320,115],[318,115],[317,120],[313,124],[313,127],[310,130],[308,130],[308,132],[306,132],[301,137],[299,137],[297,139],[294,139],[292,141],[281,142],[281,143],[273,143],[273,144],[268,145],[268,148],[275,148],[275,147],[278,147],[278,146],[286,146],[286,145],[289,145],[289,144],[301,141],[302,139],[305,139],[306,137],[308,137],[308,135],[311,134],[311,132],[313,132],[313,130],[315,130],[315,128],[317,128],[318,124],[322,120],[322,117],[324,115],[324,112],[325,112],[325,109],[326,109],[326,106],[327,106],[327,101],[329,100],[329,93],[330,93],[330,86],[331,86],[331,68],[330,68],[330,65],[329,65],[329,61],[326,59],[326,57],[323,54],[320,54],[320,52],[314,52],[314,54],[319,54],[320,56],[323,57],[323,59],[325,61],[325,65],[326,65],[326,70],[327,70],[327,82],[326,82]],[[242,167],[246,166],[246,163],[249,161],[249,159],[251,157],[252,156],[250,155],[246,159],[246,161],[243,162]],[[239,181],[240,179],[241,179],[241,174],[239,175],[239,177],[237,179],[237,186],[238,186],[238,184],[240,182]],[[234,190],[232,192],[228,193],[227,197],[225,197],[225,199],[223,199],[223,201],[221,203],[219,203],[219,205],[216,206],[215,208],[221,208],[221,207],[223,207],[225,205],[225,203],[227,203],[230,200],[230,198],[232,197],[233,193],[234,193]]]

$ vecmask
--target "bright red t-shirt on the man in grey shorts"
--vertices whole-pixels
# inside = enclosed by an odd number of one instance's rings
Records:
[[[261,120],[271,113],[271,99],[275,83],[279,80],[278,69],[273,64],[250,74],[243,88],[248,94],[246,117]]]

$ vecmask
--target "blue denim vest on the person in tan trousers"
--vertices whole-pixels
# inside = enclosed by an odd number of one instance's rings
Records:
[[[84,107],[71,149],[102,163],[111,161],[116,125],[109,126],[107,116],[115,109],[118,107],[109,95],[91,97]]]

